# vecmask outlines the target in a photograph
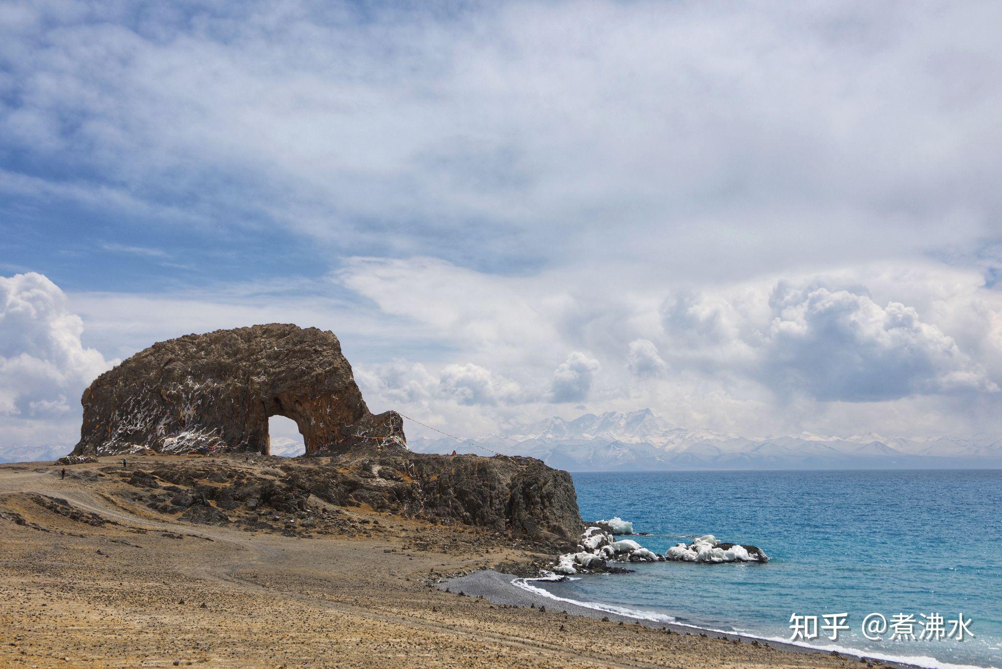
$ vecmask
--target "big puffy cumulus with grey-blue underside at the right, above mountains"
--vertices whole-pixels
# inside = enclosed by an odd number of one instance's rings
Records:
[[[902,283],[920,276],[913,270]],[[969,305],[973,298],[997,316],[997,299],[992,308],[983,302],[986,296],[974,297],[982,291],[968,286],[965,297],[957,288],[948,290],[955,279],[949,272],[921,278],[927,291],[947,294],[923,294],[914,284],[893,292],[913,293],[929,311],[940,311],[944,326],[957,325],[938,309],[944,298]],[[983,355],[987,351],[978,342],[991,341],[994,318],[960,326],[971,344],[967,352],[916,307],[893,299],[880,303],[866,285],[846,276],[676,295],[665,300],[661,314],[676,365],[743,374],[783,396],[874,402],[999,389],[990,370],[972,358],[992,357]]]

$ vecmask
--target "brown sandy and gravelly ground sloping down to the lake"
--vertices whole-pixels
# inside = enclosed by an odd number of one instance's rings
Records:
[[[545,603],[496,571],[541,556],[473,528],[364,508],[343,512],[351,531],[311,538],[180,521],[131,503],[124,483],[95,483],[114,462],[67,467],[66,479],[59,466],[0,465],[0,665],[867,662],[614,616],[603,622],[594,611]]]

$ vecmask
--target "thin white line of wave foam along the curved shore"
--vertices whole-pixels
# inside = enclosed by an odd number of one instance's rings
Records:
[[[511,585],[524,590],[526,592],[532,593],[534,595],[539,595],[540,597],[545,597],[547,599],[555,600],[557,602],[563,602],[565,604],[572,604],[574,606],[579,606],[584,609],[591,609],[593,611],[601,611],[602,613],[611,613],[616,616],[623,616],[624,618],[634,618],[636,620],[646,620],[652,623],[671,623],[672,625],[677,625],[679,627],[687,627],[692,630],[698,630],[700,632],[716,632],[718,634],[730,634],[741,636],[745,639],[758,639],[760,641],[773,641],[782,644],[787,644],[789,646],[800,646],[801,648],[810,648],[812,650],[819,651],[838,651],[845,655],[852,655],[855,657],[868,657],[875,660],[884,660],[887,662],[900,662],[903,664],[913,664],[919,667],[927,667],[928,669],[985,669],[985,667],[979,667],[971,664],[953,664],[950,662],[943,662],[942,660],[937,660],[934,657],[922,656],[910,656],[910,655],[890,655],[887,653],[882,653],[879,650],[862,650],[859,648],[850,648],[847,646],[839,646],[835,644],[808,644],[800,641],[790,641],[783,637],[767,637],[758,634],[749,634],[743,631],[736,630],[720,630],[714,627],[700,627],[698,625],[692,625],[689,623],[680,623],[674,616],[669,616],[667,614],[655,613],[653,611],[640,611],[637,609],[628,609],[626,607],[614,606],[612,604],[599,604],[598,602],[581,602],[579,600],[572,600],[567,597],[558,597],[553,593],[539,588],[537,586],[530,585],[530,581],[559,581],[562,578],[555,574],[549,574],[548,576],[543,576],[537,579],[514,579]],[[578,578],[569,579],[572,581],[578,581]],[[988,669],[994,669],[989,667]]]

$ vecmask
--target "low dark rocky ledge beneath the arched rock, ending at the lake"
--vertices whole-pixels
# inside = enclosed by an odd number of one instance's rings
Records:
[[[581,531],[570,474],[532,458],[359,452],[245,460],[223,453],[135,462],[141,468],[102,471],[132,486],[133,504],[195,523],[322,530],[333,505],[486,528],[547,551],[573,546]]]

